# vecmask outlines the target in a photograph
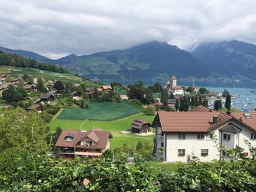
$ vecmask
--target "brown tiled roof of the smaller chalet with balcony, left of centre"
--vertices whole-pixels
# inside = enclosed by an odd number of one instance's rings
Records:
[[[67,135],[73,134],[74,138],[71,142],[67,142],[65,137]],[[80,141],[89,137],[91,140],[96,142],[94,146],[83,146],[80,145]],[[78,148],[94,148],[94,149],[105,149],[108,145],[108,138],[112,137],[110,131],[80,131],[80,130],[64,130],[61,132],[58,141],[56,142],[56,147],[78,147]]]

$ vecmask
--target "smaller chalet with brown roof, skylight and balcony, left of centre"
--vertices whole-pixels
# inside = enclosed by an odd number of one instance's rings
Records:
[[[110,148],[112,137],[110,131],[102,131],[100,128],[91,131],[64,130],[55,146],[59,147],[59,154],[66,158],[74,158],[75,155],[97,158]]]

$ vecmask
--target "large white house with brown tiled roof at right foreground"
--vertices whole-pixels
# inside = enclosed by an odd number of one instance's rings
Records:
[[[162,161],[186,162],[189,156],[206,162],[229,159],[225,151],[219,153],[222,147],[239,148],[252,157],[244,140],[256,147],[256,112],[227,114],[200,106],[190,112],[158,112],[152,126],[157,128],[154,153]]]

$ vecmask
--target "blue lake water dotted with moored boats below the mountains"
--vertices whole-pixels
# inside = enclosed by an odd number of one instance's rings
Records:
[[[106,84],[110,82],[121,82],[122,85],[133,84],[135,81],[118,81],[118,80],[102,80]],[[145,84],[153,85],[152,82],[145,82]],[[216,93],[222,93],[224,89],[230,92],[233,96],[240,97],[238,99],[232,99],[233,108],[236,107],[243,111],[254,111],[256,107],[256,82],[195,82],[197,88],[204,87],[209,91],[214,91]],[[162,83],[164,85],[164,83]],[[178,82],[180,86],[189,86],[192,83],[189,82]]]

